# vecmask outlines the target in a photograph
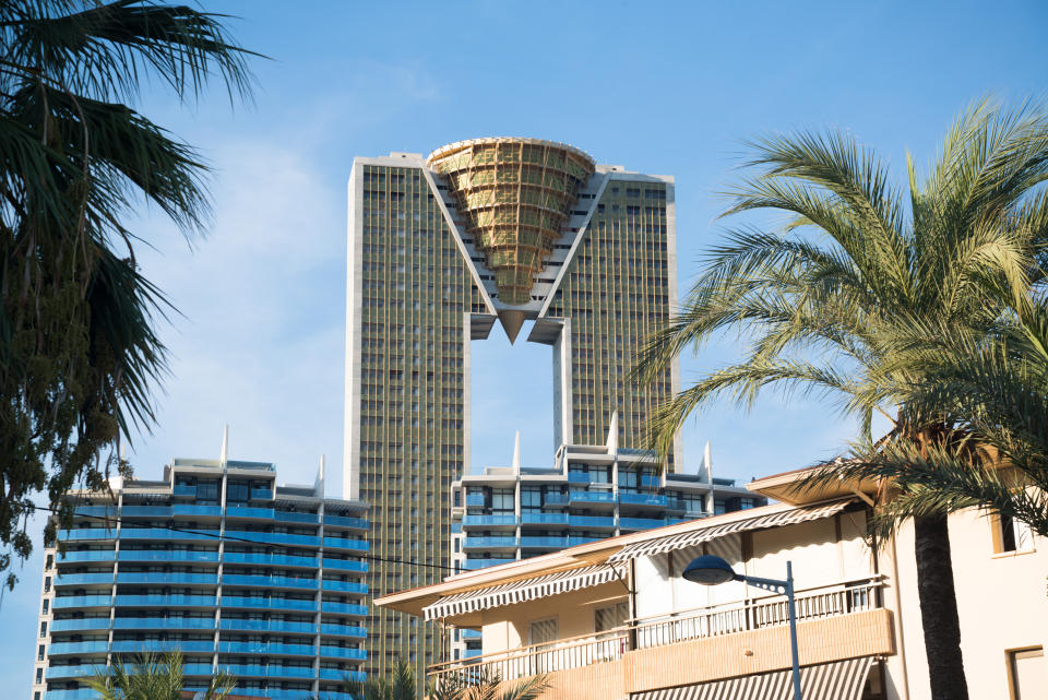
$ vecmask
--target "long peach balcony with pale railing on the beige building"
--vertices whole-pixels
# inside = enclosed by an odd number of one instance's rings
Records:
[[[801,657],[826,663],[837,659],[822,656],[835,653],[843,654],[841,659],[894,653],[891,615],[880,607],[880,580],[873,578],[798,592]],[[608,632],[445,662],[430,666],[428,675],[439,687],[453,678],[468,680],[481,674],[502,679],[547,674],[553,693],[540,698],[579,700],[621,695],[623,683],[630,695],[746,676],[765,669],[752,659],[736,660],[738,649],[788,649],[786,608],[785,597],[777,595],[712,605],[636,620]],[[827,644],[827,639],[847,639],[849,644],[838,649]],[[727,661],[681,666],[667,663],[668,659]],[[788,666],[788,659],[784,663]]]

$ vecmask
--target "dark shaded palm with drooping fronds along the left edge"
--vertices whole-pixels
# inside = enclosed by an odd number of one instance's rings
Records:
[[[120,437],[152,427],[171,307],[127,220],[144,202],[192,239],[209,169],[128,105],[150,79],[184,102],[212,80],[247,96],[223,20],[160,0],[0,3],[0,544],[15,557],[37,491],[68,522],[64,493],[105,488]]]

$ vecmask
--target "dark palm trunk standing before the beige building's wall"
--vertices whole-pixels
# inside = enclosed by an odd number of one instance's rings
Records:
[[[945,515],[914,519],[917,594],[932,700],[968,700]]]

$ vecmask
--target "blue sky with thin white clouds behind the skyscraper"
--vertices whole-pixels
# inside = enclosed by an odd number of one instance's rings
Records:
[[[171,378],[159,426],[129,453],[152,477],[171,456],[272,460],[311,483],[321,454],[340,488],[345,318],[345,187],[354,155],[429,151],[485,135],[572,143],[598,162],[677,178],[681,289],[720,236],[717,194],[742,141],[843,128],[902,178],[964,105],[1046,88],[1041,2],[204,2],[238,15],[255,61],[253,105],[218,91],[196,107],[160,93],[142,109],[214,165],[214,225],[193,250],[158,216],[146,275],[184,315],[164,329]],[[522,337],[526,333],[522,334]],[[474,463],[551,458],[549,349],[474,344]],[[735,356],[725,339],[683,379]],[[539,389],[535,389],[535,387]],[[853,426],[814,401],[769,394],[717,405],[684,432],[686,458],[713,443],[719,476],[810,464]],[[0,677],[28,698],[40,558],[4,593]]]

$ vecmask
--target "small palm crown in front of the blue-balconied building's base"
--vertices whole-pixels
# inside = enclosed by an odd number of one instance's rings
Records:
[[[223,700],[236,684],[222,671],[207,684],[203,700]],[[130,664],[117,660],[87,680],[100,700],[180,700],[182,685],[182,654],[177,651],[163,656],[144,653]]]

